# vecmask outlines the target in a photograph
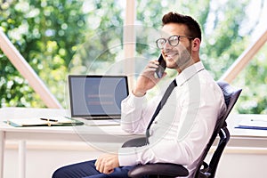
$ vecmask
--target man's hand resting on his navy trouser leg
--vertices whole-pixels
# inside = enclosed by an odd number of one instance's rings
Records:
[[[111,174],[115,167],[118,167],[118,157],[117,154],[105,154],[101,155],[94,164],[96,170],[103,174]]]

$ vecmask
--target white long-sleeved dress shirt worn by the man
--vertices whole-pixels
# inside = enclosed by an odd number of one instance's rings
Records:
[[[174,163],[186,166],[188,177],[192,177],[216,120],[226,107],[222,90],[201,61],[184,69],[175,80],[177,86],[150,127],[150,144],[119,149],[120,166]],[[122,129],[144,133],[161,97],[146,103],[145,96],[131,93],[122,101]]]

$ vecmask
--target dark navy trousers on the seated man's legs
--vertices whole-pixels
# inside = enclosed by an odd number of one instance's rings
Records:
[[[101,174],[95,169],[95,160],[63,166],[53,173],[53,178],[127,178],[128,171],[134,166],[115,168],[111,174]]]

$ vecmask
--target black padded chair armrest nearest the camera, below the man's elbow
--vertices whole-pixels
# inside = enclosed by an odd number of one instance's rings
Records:
[[[187,176],[188,170],[182,165],[156,163],[134,167],[128,172],[129,177],[141,178],[144,175],[164,175],[170,177]]]

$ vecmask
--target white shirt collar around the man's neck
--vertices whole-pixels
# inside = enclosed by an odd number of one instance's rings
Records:
[[[201,61],[198,61],[190,67],[183,69],[182,72],[175,78],[178,86],[183,85],[186,81],[197,74],[200,70],[205,69]]]

